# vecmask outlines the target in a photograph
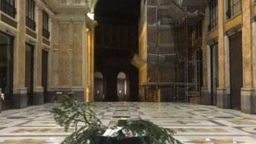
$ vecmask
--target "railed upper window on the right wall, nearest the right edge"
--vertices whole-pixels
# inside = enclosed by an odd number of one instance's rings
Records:
[[[226,18],[230,19],[242,11],[241,0],[226,0]]]

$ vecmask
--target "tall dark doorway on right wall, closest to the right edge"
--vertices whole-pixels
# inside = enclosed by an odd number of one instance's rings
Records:
[[[241,110],[241,88],[243,87],[242,33],[229,38],[230,52],[230,106]]]

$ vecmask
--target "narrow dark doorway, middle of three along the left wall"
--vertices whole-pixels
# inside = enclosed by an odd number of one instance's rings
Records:
[[[34,46],[26,43],[25,86],[27,88],[28,105],[33,105],[33,53]]]

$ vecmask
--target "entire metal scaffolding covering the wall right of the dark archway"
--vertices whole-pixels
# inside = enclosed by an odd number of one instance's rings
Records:
[[[164,2],[163,2],[164,3]],[[153,38],[151,35],[148,37],[148,67],[154,67],[154,80],[152,77],[148,77],[148,82],[144,85],[144,96],[141,101],[160,101],[161,88],[169,88],[172,90],[171,101],[175,102],[192,102],[191,98],[199,99],[200,87],[202,77],[200,75],[202,69],[202,58],[200,58],[200,52],[202,44],[200,39],[200,14],[190,13],[183,8],[177,1],[173,0],[169,4],[169,10],[165,10],[165,16],[169,16],[171,20],[168,21],[170,31],[173,31],[173,52],[160,52],[161,43],[160,39],[160,27],[161,22],[166,21],[168,18],[161,18],[160,7],[163,7],[160,0],[154,4],[156,7],[156,13],[154,18],[150,18],[148,22],[152,21],[156,31],[156,36]],[[150,6],[152,7],[152,6]],[[162,13],[161,13],[162,14]],[[161,18],[161,19],[160,19]],[[156,40],[153,44],[152,41]],[[153,51],[155,48],[155,52]],[[171,49],[171,48],[170,48]],[[163,50],[164,51],[164,50]],[[162,81],[159,78],[160,65],[166,65],[168,62],[173,63],[173,79],[171,81]],[[154,65],[154,66],[152,66]],[[170,67],[171,69],[171,67]],[[151,73],[152,75],[152,73]]]

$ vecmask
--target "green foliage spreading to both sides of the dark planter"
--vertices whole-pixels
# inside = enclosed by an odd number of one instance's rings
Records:
[[[98,144],[100,136],[104,134],[107,127],[102,125],[102,122],[96,117],[91,107],[93,107],[92,103],[77,103],[72,98],[64,96],[62,105],[60,105],[60,107],[54,107],[51,110],[51,113],[54,115],[54,120],[56,120],[60,126],[64,126],[65,132],[70,129],[70,126],[75,129],[71,135],[62,141],[62,144]],[[79,126],[77,126],[78,123]],[[139,136],[141,143],[146,143],[146,141],[154,144],[181,143],[173,138],[175,134],[173,130],[161,128],[148,120],[128,121],[123,126],[122,130],[132,132],[132,134]],[[122,134],[122,132],[117,135],[117,139],[122,139],[123,137],[125,137],[125,135]]]

